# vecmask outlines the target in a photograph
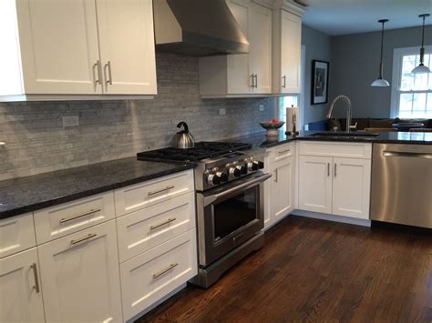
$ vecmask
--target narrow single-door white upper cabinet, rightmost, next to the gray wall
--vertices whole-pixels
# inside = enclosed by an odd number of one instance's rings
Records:
[[[300,93],[302,18],[273,11],[273,93]]]

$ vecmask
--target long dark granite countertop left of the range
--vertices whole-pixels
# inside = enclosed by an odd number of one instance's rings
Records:
[[[194,168],[136,157],[0,181],[0,219]]]

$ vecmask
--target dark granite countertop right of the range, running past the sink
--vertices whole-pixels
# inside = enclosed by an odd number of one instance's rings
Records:
[[[407,144],[407,145],[432,145],[432,133],[421,132],[380,132],[379,136],[311,136],[320,131],[302,131],[298,136],[286,136],[279,131],[279,136],[267,137],[265,131],[225,139],[231,142],[244,142],[252,145],[252,148],[270,148],[283,145],[294,140],[303,141],[336,141],[336,142],[361,142],[361,143],[385,143],[385,144]],[[354,134],[353,134],[354,135]]]

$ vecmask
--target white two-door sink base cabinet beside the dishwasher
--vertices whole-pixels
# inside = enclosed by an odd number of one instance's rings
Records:
[[[301,142],[299,208],[369,218],[372,144]]]

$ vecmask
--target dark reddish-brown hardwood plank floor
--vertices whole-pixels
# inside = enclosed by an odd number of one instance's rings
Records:
[[[432,237],[288,217],[209,289],[137,322],[432,322]]]

